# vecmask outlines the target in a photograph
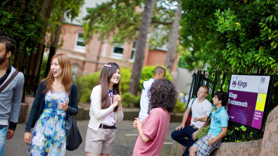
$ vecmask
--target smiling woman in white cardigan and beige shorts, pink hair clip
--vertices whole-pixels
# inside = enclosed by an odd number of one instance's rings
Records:
[[[98,85],[91,93],[90,121],[86,133],[86,156],[108,156],[116,138],[116,122],[124,114],[120,96],[120,68],[107,63],[100,73]]]

